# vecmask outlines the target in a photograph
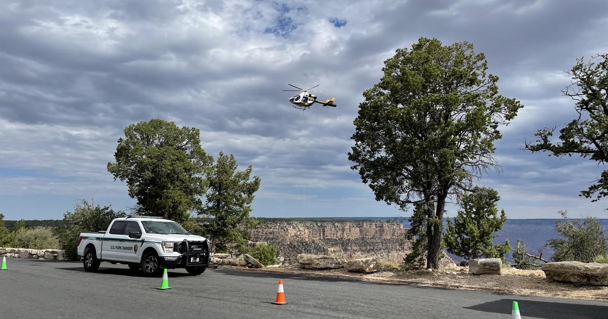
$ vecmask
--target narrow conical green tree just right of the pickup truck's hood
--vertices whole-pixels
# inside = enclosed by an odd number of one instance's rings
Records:
[[[251,218],[251,202],[260,188],[260,177],[251,179],[253,168],[237,171],[234,155],[219,152],[217,162],[207,176],[209,188],[200,215],[212,218],[206,225],[212,252],[225,251],[230,244],[243,245],[249,230],[258,221]]]

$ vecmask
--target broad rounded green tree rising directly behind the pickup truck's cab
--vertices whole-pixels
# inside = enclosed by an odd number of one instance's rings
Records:
[[[204,174],[213,162],[201,148],[200,131],[154,118],[125,128],[108,171],[126,181],[140,214],[184,222],[201,207]]]

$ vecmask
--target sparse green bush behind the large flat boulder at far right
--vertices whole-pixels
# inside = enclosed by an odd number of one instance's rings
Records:
[[[553,248],[553,261],[592,262],[596,256],[606,253],[604,227],[595,217],[570,219],[567,211],[559,211],[564,221],[555,222],[558,234],[564,238],[549,239]]]

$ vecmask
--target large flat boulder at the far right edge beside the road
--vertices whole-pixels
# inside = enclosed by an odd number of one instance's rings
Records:
[[[598,262],[559,261],[542,265],[548,280],[567,283],[608,286],[608,264]]]

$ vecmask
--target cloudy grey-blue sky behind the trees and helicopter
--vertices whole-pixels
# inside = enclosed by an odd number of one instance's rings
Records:
[[[606,1],[1,1],[0,212],[58,219],[92,196],[131,207],[106,164],[125,126],[164,118],[254,166],[256,216],[402,215],[347,153],[362,92],[426,36],[473,43],[525,105],[497,143],[502,172],[478,182],[508,217],[606,217],[606,200],[578,196],[603,166],[520,148],[575,116],[564,71],[608,52],[607,25]],[[287,83],[321,84],[338,107],[293,109]]]

